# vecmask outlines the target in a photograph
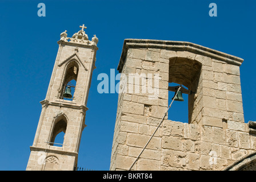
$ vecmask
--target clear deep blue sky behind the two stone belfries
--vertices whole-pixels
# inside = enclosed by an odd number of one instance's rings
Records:
[[[37,15],[40,2],[45,17]],[[217,17],[209,16],[211,2]],[[82,24],[89,39],[97,35],[99,50],[78,166],[109,170],[118,94],[99,94],[97,76],[117,69],[127,38],[192,42],[243,58],[245,122],[255,121],[255,9],[253,0],[0,1],[0,170],[26,169],[59,35],[72,36]]]

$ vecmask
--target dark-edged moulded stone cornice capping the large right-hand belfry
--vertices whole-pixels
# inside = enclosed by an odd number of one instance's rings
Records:
[[[150,39],[125,39],[123,43],[121,58],[117,68],[119,72],[122,72],[122,68],[125,64],[125,59],[127,56],[127,50],[129,48],[158,48],[171,51],[188,51],[198,55],[208,56],[216,60],[224,61],[229,64],[241,65],[243,62],[243,59],[239,57],[190,42]]]

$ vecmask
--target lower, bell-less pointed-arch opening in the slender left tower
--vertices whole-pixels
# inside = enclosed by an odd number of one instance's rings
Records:
[[[62,146],[64,143],[64,137],[67,129],[67,123],[64,119],[59,120],[55,123],[53,133],[51,135],[50,145],[51,146]]]

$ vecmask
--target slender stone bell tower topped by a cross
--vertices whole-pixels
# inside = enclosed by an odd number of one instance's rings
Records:
[[[95,68],[98,38],[83,26],[72,38],[61,33],[59,49],[39,118],[27,170],[74,170],[85,125],[87,98]],[[64,134],[63,142],[55,137]]]

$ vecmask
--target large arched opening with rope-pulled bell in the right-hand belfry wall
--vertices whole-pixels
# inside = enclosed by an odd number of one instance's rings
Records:
[[[201,63],[183,57],[169,59],[169,105],[173,101],[175,89],[182,85],[183,101],[174,101],[168,111],[168,119],[193,123],[199,118],[200,111],[195,101],[201,75]],[[197,111],[195,111],[197,110]]]

